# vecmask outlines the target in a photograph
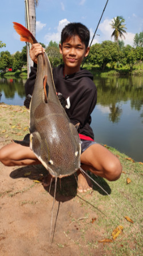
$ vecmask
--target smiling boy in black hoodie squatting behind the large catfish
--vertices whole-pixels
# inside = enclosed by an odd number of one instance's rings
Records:
[[[94,142],[94,135],[90,127],[91,116],[97,102],[97,89],[93,83],[93,76],[89,71],[81,70],[84,57],[89,54],[89,30],[81,23],[70,23],[63,28],[59,51],[62,54],[63,65],[53,70],[53,78],[57,93],[62,93],[67,100],[66,113],[73,124],[80,123],[82,169],[92,171],[114,181],[121,175],[120,161],[104,146]],[[40,44],[33,44],[30,57],[34,61],[30,78],[25,84],[26,95],[32,94],[37,72],[37,56],[44,51]],[[7,166],[35,165],[40,163],[29,147],[17,143],[10,143],[0,150],[0,161]],[[49,174],[43,185],[49,185]],[[78,192],[92,189],[89,178],[78,171]]]

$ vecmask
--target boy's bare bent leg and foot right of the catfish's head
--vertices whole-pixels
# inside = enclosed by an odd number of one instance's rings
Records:
[[[122,166],[118,158],[101,144],[93,144],[81,154],[81,163],[84,170],[104,177],[109,181],[116,181],[121,175]],[[80,173],[78,175],[78,192],[86,192],[91,189],[89,181]]]

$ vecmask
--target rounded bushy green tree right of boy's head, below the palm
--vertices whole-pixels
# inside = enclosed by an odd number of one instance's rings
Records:
[[[88,62],[98,64],[102,70],[106,64],[118,61],[118,45],[112,41],[103,41],[90,47]]]

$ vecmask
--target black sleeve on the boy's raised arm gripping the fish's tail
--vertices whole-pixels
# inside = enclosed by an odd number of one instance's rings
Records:
[[[28,94],[31,94],[31,95],[33,94],[36,75],[37,75],[37,64],[34,63],[34,67],[31,67],[31,72],[29,74],[29,78],[27,79],[27,81],[25,83],[26,96]]]

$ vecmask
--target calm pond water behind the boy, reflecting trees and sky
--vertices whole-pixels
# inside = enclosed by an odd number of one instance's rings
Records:
[[[0,78],[0,101],[23,105],[25,82]],[[95,77],[94,82],[98,90],[92,113],[95,140],[143,162],[143,77]]]

